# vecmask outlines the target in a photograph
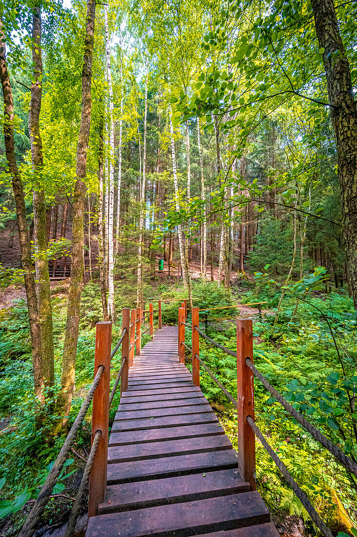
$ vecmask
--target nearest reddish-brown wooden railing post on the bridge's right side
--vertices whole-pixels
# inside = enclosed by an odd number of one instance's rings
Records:
[[[253,322],[237,319],[238,462],[243,480],[250,483],[251,490],[257,490],[256,438],[246,419],[254,419],[254,380],[246,358],[253,361]]]

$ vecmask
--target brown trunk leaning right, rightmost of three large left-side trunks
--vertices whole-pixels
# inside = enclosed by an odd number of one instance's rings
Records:
[[[79,127],[77,144],[77,180],[73,196],[71,280],[69,284],[67,323],[65,326],[62,355],[61,391],[56,403],[57,412],[62,417],[59,426],[64,424],[68,419],[66,416],[69,415],[75,385],[79,311],[81,309],[83,285],[83,219],[86,194],[87,150],[92,112],[91,82],[95,12],[96,0],[88,0],[82,70],[81,125]]]

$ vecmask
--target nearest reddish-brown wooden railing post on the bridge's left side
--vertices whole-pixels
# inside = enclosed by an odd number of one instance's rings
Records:
[[[101,431],[101,437],[89,480],[89,517],[97,515],[98,504],[104,501],[107,488],[111,347],[112,322],[97,323],[94,376],[96,376],[99,366],[104,366],[104,372],[93,396],[92,442],[97,431]]]

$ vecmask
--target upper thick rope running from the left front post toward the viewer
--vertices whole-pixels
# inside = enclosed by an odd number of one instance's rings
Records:
[[[30,513],[28,514],[28,517],[25,520],[25,524],[21,528],[18,537],[32,537],[35,527],[37,526],[37,523],[43,514],[43,511],[45,511],[45,507],[47,505],[49,496],[53,492],[53,488],[57,482],[57,478],[63,469],[65,461],[67,460],[69,450],[73,442],[75,441],[75,438],[79,431],[79,427],[81,427],[84,417],[89,409],[89,405],[91,404],[93,399],[94,391],[96,391],[103,372],[104,366],[99,366],[96,376],[94,377],[92,386],[89,388],[87,395],[85,396],[82,406],[79,409],[77,417],[74,421],[74,424],[71,426],[67,438],[65,439],[64,444],[61,448],[61,451],[57,455],[57,459],[55,460],[55,463],[51,468],[50,473],[48,474],[46,481],[40,490],[40,494],[36,502],[34,503]]]

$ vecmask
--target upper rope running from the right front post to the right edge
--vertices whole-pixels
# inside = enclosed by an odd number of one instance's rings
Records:
[[[252,363],[252,361],[249,358],[245,359],[246,365],[251,369],[254,376],[257,377],[258,380],[265,386],[265,388],[272,394],[272,396],[278,401],[285,410],[287,410],[298,423],[300,423],[304,429],[306,429],[312,437],[315,438],[320,444],[322,444],[326,449],[328,449],[334,457],[340,463],[347,468],[348,471],[353,473],[357,476],[357,465],[350,459],[343,451],[340,449],[336,444],[333,444],[331,440],[329,440],[327,437],[325,437],[322,432],[320,432],[314,425],[312,425],[308,420],[297,410],[294,409],[294,407],[288,403],[288,401],[277,391],[273,386],[267,381],[267,379],[258,371],[256,366]]]

